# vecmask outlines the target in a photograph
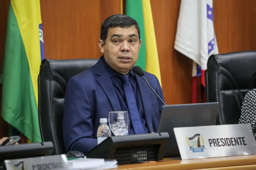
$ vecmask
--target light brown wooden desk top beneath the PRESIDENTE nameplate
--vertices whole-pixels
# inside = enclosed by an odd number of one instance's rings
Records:
[[[118,170],[256,170],[256,155],[191,160],[164,159],[156,163],[119,165]]]

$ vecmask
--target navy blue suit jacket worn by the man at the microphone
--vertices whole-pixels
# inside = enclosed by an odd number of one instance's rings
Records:
[[[164,101],[157,77],[148,72],[144,76]],[[145,80],[135,75],[142,99],[146,126],[156,132],[163,104],[150,90]],[[91,68],[73,76],[65,94],[63,138],[66,150],[78,150],[87,154],[97,146],[97,130],[100,118],[108,118],[108,112],[121,111],[111,79],[99,60]]]

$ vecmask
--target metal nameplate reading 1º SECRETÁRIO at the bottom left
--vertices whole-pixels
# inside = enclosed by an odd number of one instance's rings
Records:
[[[65,154],[5,160],[6,170],[69,170]]]

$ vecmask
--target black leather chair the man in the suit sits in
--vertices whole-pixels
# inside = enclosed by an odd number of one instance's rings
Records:
[[[52,141],[53,154],[66,153],[62,133],[64,96],[68,80],[98,59],[44,59],[38,76],[38,119],[42,141]]]

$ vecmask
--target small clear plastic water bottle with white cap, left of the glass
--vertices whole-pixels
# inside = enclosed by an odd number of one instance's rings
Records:
[[[107,137],[111,136],[110,128],[107,125],[107,118],[100,119],[100,126],[97,131],[98,144],[100,144]]]

